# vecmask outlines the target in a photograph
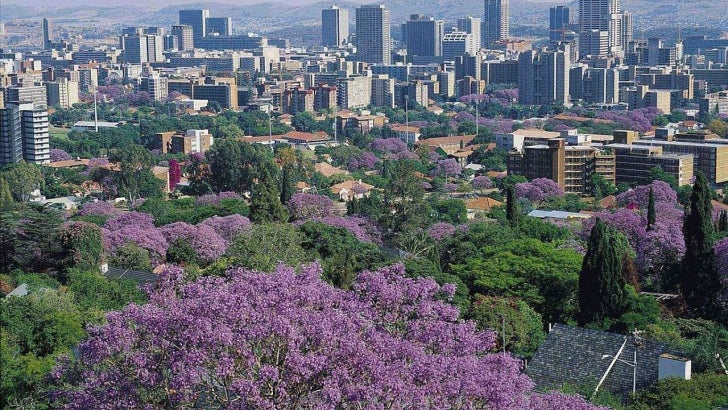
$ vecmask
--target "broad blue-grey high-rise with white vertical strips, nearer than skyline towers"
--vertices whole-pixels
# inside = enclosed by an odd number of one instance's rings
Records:
[[[569,105],[569,45],[529,50],[518,56],[518,102]]]

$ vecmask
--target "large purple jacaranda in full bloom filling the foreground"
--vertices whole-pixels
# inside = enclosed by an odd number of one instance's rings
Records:
[[[455,286],[362,272],[352,291],[318,265],[169,268],[145,305],[89,329],[52,372],[52,406],[88,408],[594,408],[542,394],[492,331],[442,301]]]

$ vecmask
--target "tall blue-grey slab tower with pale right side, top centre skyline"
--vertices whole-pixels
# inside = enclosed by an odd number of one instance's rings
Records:
[[[356,9],[356,47],[361,61],[391,64],[389,9],[384,5],[364,5]]]

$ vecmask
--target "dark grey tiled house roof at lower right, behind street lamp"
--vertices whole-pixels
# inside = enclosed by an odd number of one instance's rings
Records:
[[[565,383],[574,386],[596,387],[606,372],[612,357],[627,338],[619,358],[634,361],[635,345],[632,336],[600,330],[556,324],[536,351],[526,368],[526,374],[538,388],[557,388]],[[659,357],[670,353],[664,343],[643,340],[637,348],[637,391],[647,388],[658,379]],[[617,361],[600,390],[625,397],[632,392],[632,367]]]

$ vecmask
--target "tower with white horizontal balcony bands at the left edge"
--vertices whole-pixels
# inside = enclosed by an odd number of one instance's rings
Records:
[[[0,166],[21,159],[34,164],[50,162],[48,111],[31,102],[8,102],[0,110]]]

